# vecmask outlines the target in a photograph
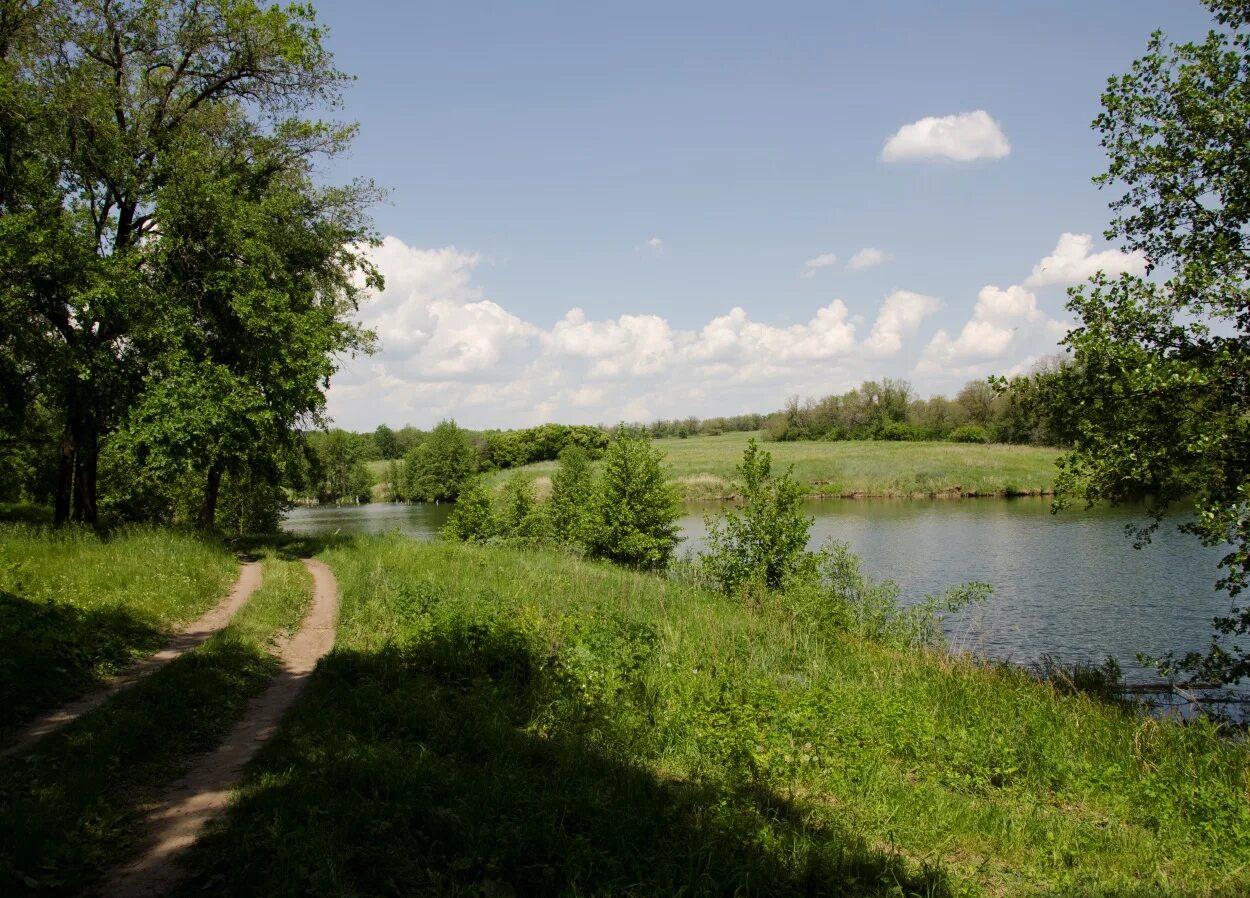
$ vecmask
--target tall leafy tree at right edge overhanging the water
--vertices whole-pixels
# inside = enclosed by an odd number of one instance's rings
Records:
[[[1070,291],[1080,326],[1066,339],[1052,406],[1072,419],[1065,497],[1122,502],[1145,493],[1152,523],[1191,495],[1185,529],[1230,544],[1220,585],[1250,578],[1250,3],[1206,0],[1224,30],[1146,55],[1111,78],[1094,121],[1121,190],[1109,239],[1165,279],[1095,276]],[[1250,654],[1250,609],[1215,622],[1231,637],[1164,667],[1235,682]]]

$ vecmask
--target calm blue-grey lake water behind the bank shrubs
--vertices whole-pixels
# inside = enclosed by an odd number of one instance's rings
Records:
[[[450,505],[301,508],[284,527],[294,533],[380,533],[436,537]],[[704,515],[719,505],[686,507],[684,548],[704,545]],[[1111,655],[1126,678],[1155,679],[1138,652],[1202,649],[1211,618],[1229,610],[1215,589],[1220,549],[1165,522],[1138,550],[1125,525],[1140,508],[1050,513],[1048,499],[830,499],[808,503],[811,543],[849,543],[866,572],[894,579],[904,603],[969,580],[994,587],[985,605],[948,623],[956,650],[1030,663],[1049,654],[1064,663]]]

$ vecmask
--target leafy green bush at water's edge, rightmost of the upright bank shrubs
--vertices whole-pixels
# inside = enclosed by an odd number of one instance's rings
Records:
[[[708,515],[708,552],[700,553],[711,579],[726,593],[752,584],[782,589],[788,580],[810,573],[808,553],[811,518],[802,512],[802,490],[790,472],[775,477],[772,457],[746,444],[738,467],[741,513]]]

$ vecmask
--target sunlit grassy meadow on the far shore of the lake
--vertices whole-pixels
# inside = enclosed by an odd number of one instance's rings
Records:
[[[668,455],[685,499],[732,495],[734,468],[754,434],[655,440]],[[1039,495],[1054,488],[1059,452],[1039,446],[968,443],[769,443],[774,467],[794,465],[794,477],[814,497],[935,498]],[[525,470],[550,477],[554,462]],[[492,474],[501,483],[510,472]]]

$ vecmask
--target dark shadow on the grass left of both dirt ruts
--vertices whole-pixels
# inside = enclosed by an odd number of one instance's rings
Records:
[[[168,639],[120,608],[84,612],[0,590],[0,744],[20,724],[102,685]]]

